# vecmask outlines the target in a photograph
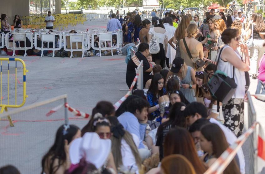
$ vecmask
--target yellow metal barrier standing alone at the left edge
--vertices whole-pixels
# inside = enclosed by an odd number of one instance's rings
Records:
[[[7,103],[3,102],[3,61],[7,61],[8,62],[8,72],[7,72],[7,86],[8,86],[8,91],[7,91]],[[10,104],[10,68],[9,68],[9,63],[10,61],[15,61],[15,102],[14,104]],[[21,62],[21,64],[23,65],[23,101],[21,104],[17,104],[17,80],[18,80],[18,76],[17,76],[17,61]],[[0,58],[0,64],[1,64],[1,71],[0,71],[0,107],[1,107],[1,111],[0,114],[2,114],[4,111],[8,111],[7,108],[20,108],[22,107],[25,102],[26,102],[26,98],[28,97],[28,95],[26,94],[26,72],[28,72],[28,70],[26,69],[26,64],[22,59],[18,59],[18,58]],[[12,86],[13,88],[13,86]],[[1,118],[0,118],[1,119]],[[10,126],[14,126],[10,116],[8,116],[8,120],[10,123]]]

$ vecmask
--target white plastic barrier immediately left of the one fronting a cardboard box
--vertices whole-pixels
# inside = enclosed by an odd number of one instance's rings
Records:
[[[41,47],[38,47],[38,39],[37,37],[40,37],[40,41],[41,41]],[[59,45],[57,44],[57,46],[55,45],[59,39]],[[44,43],[47,43],[47,48],[44,47]],[[45,44],[46,45],[46,44]],[[52,46],[52,48],[50,48]],[[61,33],[54,33],[54,32],[39,32],[36,33],[35,32],[35,39],[34,39],[34,47],[36,50],[41,50],[41,57],[44,56],[43,55],[43,51],[44,50],[49,50],[49,51],[53,51],[53,55],[52,57],[55,56],[55,50],[60,50],[62,48],[62,35]]]

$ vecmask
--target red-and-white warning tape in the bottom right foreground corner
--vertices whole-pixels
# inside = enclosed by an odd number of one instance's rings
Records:
[[[240,137],[237,138],[236,142],[229,146],[225,152],[209,167],[209,169],[204,174],[220,174],[222,173],[228,164],[232,161],[235,157],[237,151],[246,141],[248,136],[256,130],[256,126],[259,124],[258,122],[254,122],[252,126]],[[258,132],[258,158],[257,158],[257,165],[258,171],[260,172],[263,167],[265,167],[265,138],[264,133],[262,130],[261,125],[259,125],[259,132]]]

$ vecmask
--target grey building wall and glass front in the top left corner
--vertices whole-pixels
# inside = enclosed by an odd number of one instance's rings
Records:
[[[8,16],[8,23],[13,25],[16,14],[19,16],[42,16],[48,11],[61,13],[61,0],[1,0],[0,14]]]

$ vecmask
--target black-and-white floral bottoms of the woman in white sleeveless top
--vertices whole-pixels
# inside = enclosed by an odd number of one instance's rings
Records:
[[[242,135],[244,128],[244,99],[230,99],[222,106],[225,118],[224,125],[228,127],[236,137]]]

